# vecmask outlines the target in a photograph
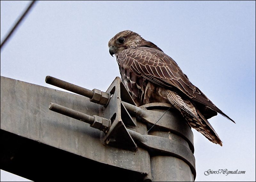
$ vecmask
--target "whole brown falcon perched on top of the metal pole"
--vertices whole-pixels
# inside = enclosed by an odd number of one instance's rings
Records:
[[[188,80],[170,56],[154,43],[129,30],[117,33],[109,40],[108,47],[110,55],[116,55],[122,81],[136,106],[154,102],[170,103],[191,127],[222,146],[207,119],[220,113],[233,120]]]

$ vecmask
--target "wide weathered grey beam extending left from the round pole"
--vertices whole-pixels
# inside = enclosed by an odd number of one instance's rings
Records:
[[[83,96],[1,76],[1,145],[12,135],[11,138],[16,138],[16,141],[18,138],[21,138],[21,141],[28,140],[29,142],[25,143],[30,143],[35,148],[38,142],[46,144],[47,147],[41,149],[44,151],[40,155],[46,155],[49,151],[52,151],[47,149],[48,146],[51,146],[52,149],[57,149],[57,151],[60,149],[69,154],[63,157],[70,157],[71,154],[75,154],[78,158],[80,157],[79,160],[91,160],[98,163],[99,166],[102,164],[116,167],[115,169],[123,169],[126,174],[129,173],[127,171],[130,171],[136,174],[134,175],[136,180],[148,174],[150,161],[149,154],[145,149],[138,148],[137,152],[132,152],[111,146],[106,147],[100,141],[102,131],[90,127],[87,123],[50,111],[48,106],[51,102],[91,116],[100,115],[100,108],[103,107],[90,102],[89,98]],[[6,142],[4,146],[8,146]],[[31,147],[33,148],[33,146]],[[8,151],[6,152],[8,153]],[[58,152],[56,155],[58,155]],[[4,155],[1,154],[1,169],[4,168],[2,160],[5,160],[2,156]],[[32,156],[38,157],[38,159],[42,158],[42,156]],[[27,157],[29,158],[29,156]],[[69,159],[63,158],[63,161],[69,161]],[[7,161],[9,160],[12,159]],[[33,158],[30,158],[29,161],[33,161]],[[38,161],[42,162],[42,160]],[[15,163],[15,165],[18,164]],[[9,164],[6,163],[6,165]],[[19,165],[22,166],[22,164]],[[50,162],[48,165],[53,164]],[[61,167],[61,165],[56,166]],[[84,171],[90,168],[86,164],[77,165],[84,168]],[[43,168],[45,167],[47,168],[47,166],[43,166]],[[72,168],[69,164],[65,167]],[[34,168],[40,169],[42,166],[37,164]],[[71,175],[74,177],[75,174]],[[38,179],[42,178],[38,176],[38,178],[32,180]]]

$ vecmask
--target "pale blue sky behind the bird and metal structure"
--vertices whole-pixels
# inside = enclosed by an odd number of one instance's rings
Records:
[[[29,3],[1,1],[1,42]],[[38,1],[1,49],[1,76],[106,91],[120,77],[108,41],[124,30],[160,47],[236,122],[209,119],[222,147],[192,129],[196,181],[255,181],[255,1]],[[225,169],[245,174],[204,174]],[[21,180],[1,170],[1,181]]]

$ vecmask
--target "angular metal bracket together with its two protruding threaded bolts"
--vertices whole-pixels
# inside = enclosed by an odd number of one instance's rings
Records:
[[[46,76],[45,82],[83,95],[90,98],[91,102],[103,105],[100,112],[101,117],[92,117],[54,103],[50,104],[50,110],[84,121],[89,123],[91,127],[103,131],[104,133],[101,134],[101,140],[105,145],[132,151],[137,150],[138,147],[136,143],[133,141],[125,127],[125,125],[127,127],[136,127],[136,121],[132,119],[124,105],[121,103],[121,100],[129,104],[135,104],[119,77],[116,77],[106,92],[97,89],[91,91],[52,76]]]

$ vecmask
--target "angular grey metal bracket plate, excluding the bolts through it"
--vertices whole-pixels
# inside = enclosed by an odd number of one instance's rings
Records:
[[[100,116],[110,118],[111,126],[106,135],[101,135],[101,140],[105,145],[136,151],[137,145],[126,129],[129,126],[136,126],[136,121],[132,120],[122,105],[122,100],[135,105],[131,96],[119,77],[116,77],[106,92],[111,96],[111,99],[108,106],[102,108]]]

